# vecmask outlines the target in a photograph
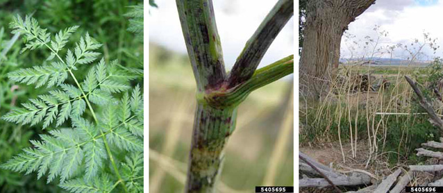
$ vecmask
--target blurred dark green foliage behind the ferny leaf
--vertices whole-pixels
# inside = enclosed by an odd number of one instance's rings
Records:
[[[0,116],[24,103],[29,98],[47,92],[43,87],[35,89],[33,85],[15,84],[8,80],[8,72],[32,67],[45,62],[49,51],[37,49],[19,53],[24,46],[21,37],[13,42],[6,54],[3,50],[10,45],[12,34],[8,24],[17,14],[33,15],[42,28],[56,33],[63,28],[78,25],[78,31],[70,38],[67,47],[77,42],[81,35],[90,33],[103,44],[99,52],[106,62],[119,60],[124,68],[138,69],[141,77],[136,81],[142,85],[143,42],[134,33],[128,31],[128,17],[131,6],[143,1],[128,0],[0,0]],[[64,54],[64,53],[62,53]],[[86,67],[87,68],[87,67]],[[84,69],[78,69],[82,72]],[[80,76],[81,73],[78,73]],[[134,83],[136,84],[136,83]],[[47,131],[49,131],[49,128]],[[29,140],[37,140],[42,126],[17,126],[0,119],[0,163],[16,155],[24,147],[31,146]],[[19,174],[0,169],[0,193],[3,192],[62,192],[56,187],[57,182],[47,185],[43,179],[37,180],[35,174]]]

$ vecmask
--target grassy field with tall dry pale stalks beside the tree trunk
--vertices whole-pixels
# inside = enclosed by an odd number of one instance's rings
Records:
[[[338,76],[341,82],[333,82],[332,91],[320,101],[300,102],[300,146],[312,149],[335,149],[330,162],[356,164],[356,167],[373,168],[380,164],[387,167],[408,162],[421,162],[415,149],[422,142],[437,140],[440,132],[429,122],[426,114],[415,101],[415,94],[404,76],[417,81],[428,97],[428,85],[439,76],[436,66],[429,67],[368,67],[341,65]],[[369,74],[371,85],[383,78],[390,85],[384,89],[351,90],[358,85],[358,76]],[[441,102],[433,101],[437,113],[442,113]],[[319,118],[321,117],[321,118]],[[321,145],[319,145],[321,144]],[[331,151],[334,152],[334,151]],[[314,151],[315,154],[318,153]],[[321,153],[321,152],[320,152]],[[331,153],[332,154],[332,153]],[[337,155],[338,156],[337,158]],[[360,160],[358,158],[364,158]],[[360,162],[354,162],[360,160]],[[388,173],[389,174],[389,173]]]

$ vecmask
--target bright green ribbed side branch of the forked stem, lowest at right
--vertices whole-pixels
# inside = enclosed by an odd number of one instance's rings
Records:
[[[200,97],[203,97],[203,100],[213,108],[236,106],[254,90],[292,73],[294,73],[294,55],[258,69],[248,81],[238,87],[233,87],[231,90],[214,91]],[[197,95],[197,97],[199,96]]]

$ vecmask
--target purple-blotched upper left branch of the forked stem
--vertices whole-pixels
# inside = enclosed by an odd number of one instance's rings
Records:
[[[187,53],[199,92],[217,89],[224,82],[222,44],[211,0],[176,0]]]

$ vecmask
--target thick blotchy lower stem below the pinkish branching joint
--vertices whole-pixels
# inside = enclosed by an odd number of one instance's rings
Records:
[[[236,107],[215,109],[197,104],[185,192],[214,192],[236,117]]]

